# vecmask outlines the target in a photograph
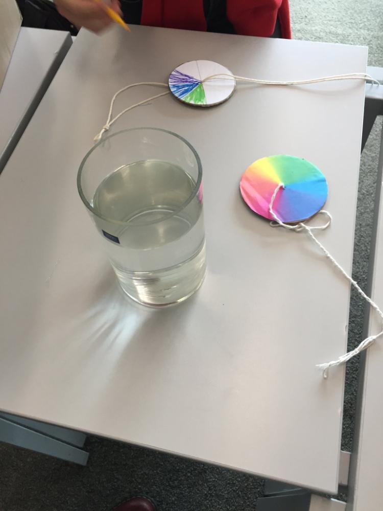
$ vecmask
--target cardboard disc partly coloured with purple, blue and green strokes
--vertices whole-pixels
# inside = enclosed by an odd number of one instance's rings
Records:
[[[234,78],[216,78],[202,83],[208,76],[232,75],[221,64],[210,60],[192,60],[174,69],[169,88],[176,98],[194,106],[214,106],[226,101],[235,89]]]

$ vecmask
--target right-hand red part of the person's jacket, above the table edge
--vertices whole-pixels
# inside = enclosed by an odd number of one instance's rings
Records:
[[[237,34],[270,37],[277,16],[282,37],[291,39],[289,0],[227,0],[227,17]]]

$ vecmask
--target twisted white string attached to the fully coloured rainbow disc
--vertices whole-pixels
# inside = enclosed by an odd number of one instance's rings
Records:
[[[366,350],[375,341],[375,339],[377,339],[378,337],[380,337],[383,334],[383,312],[381,312],[379,307],[371,300],[371,298],[369,296],[366,295],[366,293],[360,288],[360,286],[357,284],[357,282],[355,282],[353,280],[353,278],[350,277],[346,273],[346,271],[342,268],[342,266],[339,263],[337,263],[337,261],[332,257],[332,255],[328,252],[328,250],[314,236],[314,234],[313,234],[313,230],[314,229],[325,229],[325,228],[327,228],[330,225],[332,218],[331,218],[331,215],[327,211],[322,210],[322,211],[319,212],[319,213],[322,213],[322,214],[326,214],[327,217],[328,217],[328,222],[326,224],[324,224],[324,225],[319,226],[319,227],[309,227],[304,222],[300,222],[300,223],[298,223],[296,225],[289,225],[289,224],[283,223],[280,220],[280,218],[277,217],[277,215],[273,211],[273,204],[274,204],[275,198],[276,198],[276,196],[277,196],[277,194],[278,194],[278,192],[279,192],[279,190],[281,188],[284,188],[284,184],[283,183],[279,183],[278,184],[278,186],[274,190],[274,193],[273,193],[273,195],[271,197],[271,200],[270,200],[269,211],[270,211],[270,214],[272,215],[272,217],[275,219],[275,222],[276,222],[276,223],[272,222],[272,226],[275,227],[276,225],[280,225],[280,226],[282,226],[282,227],[284,227],[286,229],[296,230],[296,231],[300,231],[300,230],[304,229],[306,231],[306,233],[308,234],[308,236],[322,250],[322,252],[325,254],[326,258],[329,259],[331,261],[331,263],[336,268],[338,268],[338,270],[342,273],[342,275],[345,278],[347,278],[347,280],[352,284],[352,286],[354,286],[356,291],[368,302],[370,307],[372,307],[377,312],[377,314],[380,316],[380,320],[381,320],[381,328],[382,328],[382,330],[378,334],[370,335],[369,337],[364,339],[354,350],[346,353],[345,355],[341,355],[337,360],[331,360],[331,362],[327,362],[325,364],[318,364],[317,365],[317,367],[319,367],[320,369],[323,370],[323,378],[327,378],[328,377],[328,369],[330,367],[346,363],[348,360],[353,358],[355,355],[358,355],[362,351]]]

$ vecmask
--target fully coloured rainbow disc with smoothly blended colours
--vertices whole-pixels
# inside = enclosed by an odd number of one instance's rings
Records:
[[[309,161],[296,156],[267,156],[254,161],[241,178],[241,194],[258,215],[274,220],[270,201],[279,183],[273,211],[284,223],[307,220],[321,210],[327,199],[327,181]]]

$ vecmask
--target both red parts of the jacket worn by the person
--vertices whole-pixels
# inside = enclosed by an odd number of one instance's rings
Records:
[[[269,37],[278,16],[282,37],[291,38],[289,0],[226,0],[226,15],[236,34]],[[206,30],[203,0],[143,0],[141,24]]]

